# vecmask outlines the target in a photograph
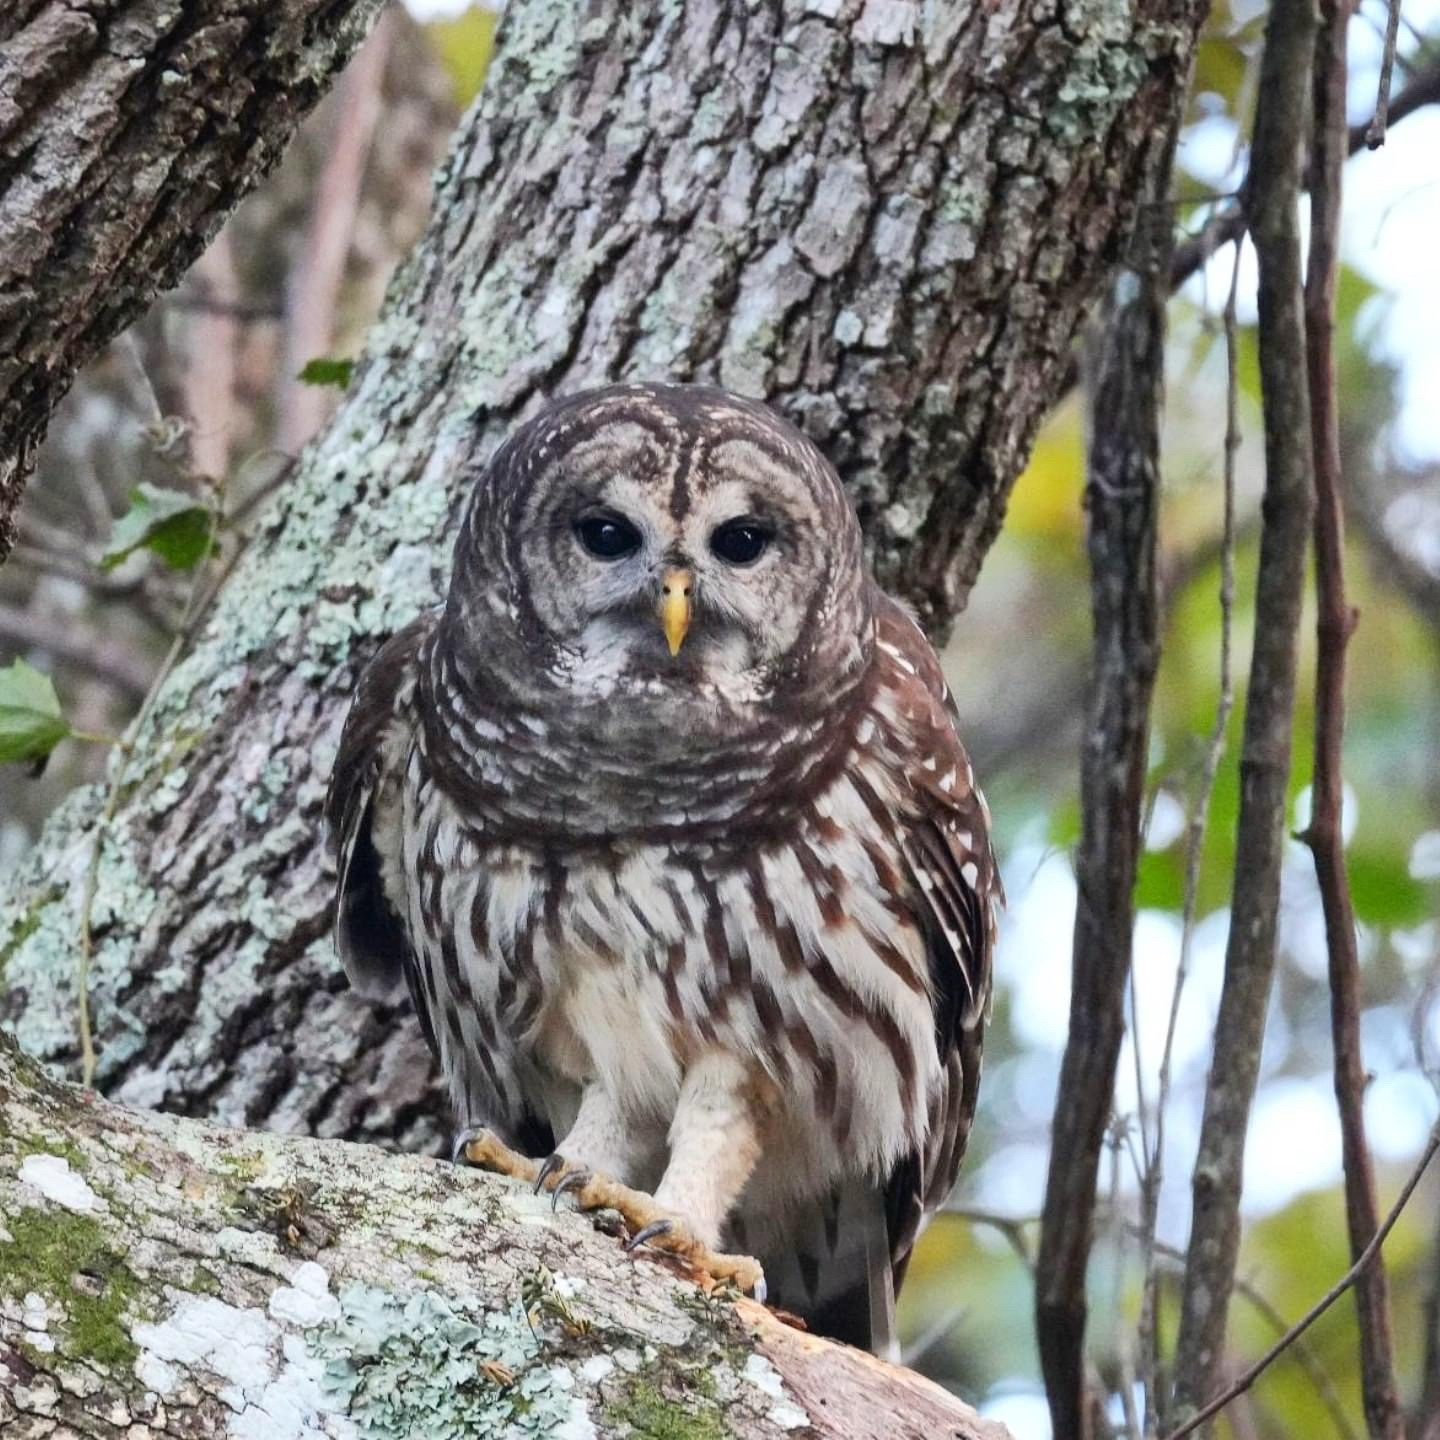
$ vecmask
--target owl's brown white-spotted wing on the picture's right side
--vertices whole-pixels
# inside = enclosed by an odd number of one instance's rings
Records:
[[[960,744],[955,703],[935,651],[894,602],[883,606],[878,621],[881,658],[903,677],[903,708],[914,726],[913,811],[901,845],[929,950],[942,1067],[924,1145],[901,1161],[886,1188],[899,1292],[920,1228],[955,1184],[975,1116],[1004,890],[989,842],[989,812]]]

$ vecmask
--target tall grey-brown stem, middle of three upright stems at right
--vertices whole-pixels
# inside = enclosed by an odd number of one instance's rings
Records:
[[[1260,1041],[1274,973],[1296,654],[1313,507],[1297,210],[1315,30],[1310,0],[1274,0],[1266,24],[1250,167],[1247,204],[1260,261],[1264,526],[1240,756],[1240,819],[1225,979],[1205,1084],[1175,1346],[1176,1421],[1194,1414],[1214,1390],[1224,1354],[1225,1318],[1240,1250],[1246,1130],[1260,1074]]]

